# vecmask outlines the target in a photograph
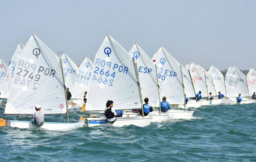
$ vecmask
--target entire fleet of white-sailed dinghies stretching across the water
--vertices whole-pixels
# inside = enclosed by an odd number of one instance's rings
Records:
[[[32,34],[25,46],[18,44],[9,66],[0,59],[0,72],[0,98],[7,98],[5,115],[19,115],[19,118],[33,115],[35,106],[40,105],[45,115],[67,117],[66,122],[45,122],[41,129],[47,130],[131,124],[144,127],[151,122],[189,119],[194,111],[188,108],[253,103],[251,96],[256,91],[254,69],[244,75],[236,66],[229,67],[224,78],[214,66],[208,71],[194,63],[184,67],[162,46],[152,59],[137,43],[127,52],[108,34],[94,62],[85,57],[79,68],[66,53],[59,58]],[[68,88],[72,93],[70,100],[67,100]],[[202,99],[197,100],[199,91]],[[86,103],[85,92],[88,92]],[[219,92],[225,97],[219,99]],[[241,102],[236,102],[238,94],[243,97]],[[166,112],[160,109],[163,97],[172,106]],[[154,109],[147,116],[143,113],[144,98],[149,98]],[[114,123],[102,117],[107,100],[114,101],[115,110],[124,111]],[[69,123],[70,104],[72,108],[82,107],[90,116]],[[142,113],[131,110],[142,110]],[[37,128],[30,121],[2,121],[6,126]]]

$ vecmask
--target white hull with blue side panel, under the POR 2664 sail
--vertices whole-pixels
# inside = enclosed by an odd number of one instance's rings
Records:
[[[117,117],[117,120],[114,123],[110,123],[106,121],[106,118],[85,118],[85,124],[88,127],[94,126],[114,126],[114,127],[122,127],[124,125],[136,125],[139,127],[148,126],[152,117]]]

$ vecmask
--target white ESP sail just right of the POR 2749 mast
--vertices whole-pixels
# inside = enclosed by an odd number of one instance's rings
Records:
[[[64,53],[61,56],[64,78],[65,78],[65,85],[69,88],[69,91],[74,94],[74,84],[77,77],[78,67],[77,65]]]

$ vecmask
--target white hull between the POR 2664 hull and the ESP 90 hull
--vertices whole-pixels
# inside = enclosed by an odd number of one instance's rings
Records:
[[[157,111],[159,112],[159,111]],[[135,117],[140,116],[138,113],[135,112],[124,112],[123,117]],[[162,122],[167,121],[169,118],[168,114],[159,114],[159,113],[152,113],[150,112],[147,116],[151,116],[153,119],[151,122]]]

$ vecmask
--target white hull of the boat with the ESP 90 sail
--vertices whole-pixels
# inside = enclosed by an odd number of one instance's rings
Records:
[[[153,111],[150,113],[152,113],[152,114],[159,113],[159,111]],[[184,111],[184,110],[175,110],[175,109],[171,109],[166,112],[161,111],[162,115],[169,115],[169,118],[171,118],[171,119],[190,119],[192,117],[193,113],[194,113],[194,111],[187,111],[187,110]]]

